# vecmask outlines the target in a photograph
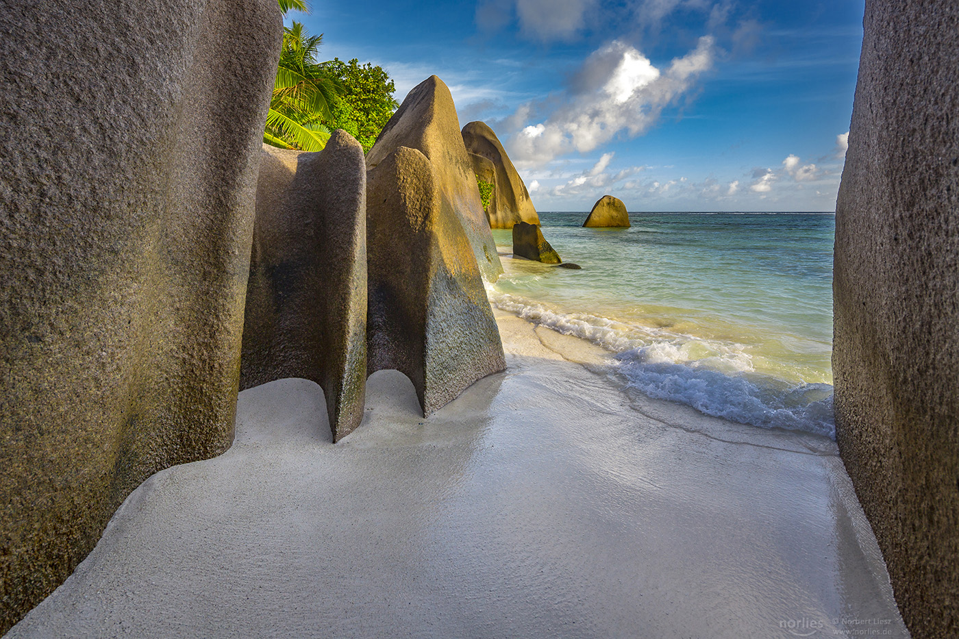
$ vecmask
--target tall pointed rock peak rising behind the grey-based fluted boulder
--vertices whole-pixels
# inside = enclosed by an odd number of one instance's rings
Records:
[[[480,272],[495,280],[503,265],[479,201],[476,174],[459,131],[453,96],[436,76],[413,88],[393,113],[366,155],[366,168],[375,168],[401,146],[420,151],[433,164],[436,187],[459,217]]]

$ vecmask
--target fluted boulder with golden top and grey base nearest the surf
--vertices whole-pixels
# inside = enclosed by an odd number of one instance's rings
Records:
[[[426,155],[406,147],[367,175],[367,368],[405,373],[427,415],[506,366],[445,178]]]

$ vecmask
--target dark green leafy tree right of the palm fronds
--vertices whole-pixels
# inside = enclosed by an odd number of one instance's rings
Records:
[[[376,142],[399,103],[393,98],[396,86],[383,67],[357,59],[333,59],[323,65],[329,77],[342,86],[332,116],[323,120],[330,130],[342,129],[355,137],[368,152]]]

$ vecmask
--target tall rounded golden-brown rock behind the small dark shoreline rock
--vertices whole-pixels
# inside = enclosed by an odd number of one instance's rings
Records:
[[[477,176],[493,184],[493,194],[486,208],[490,227],[512,228],[520,221],[539,225],[539,215],[529,199],[526,184],[503,150],[496,133],[484,122],[471,122],[463,127],[462,135],[466,150],[473,160],[473,170]],[[489,167],[477,156],[486,158],[492,164],[492,179],[487,178]]]

